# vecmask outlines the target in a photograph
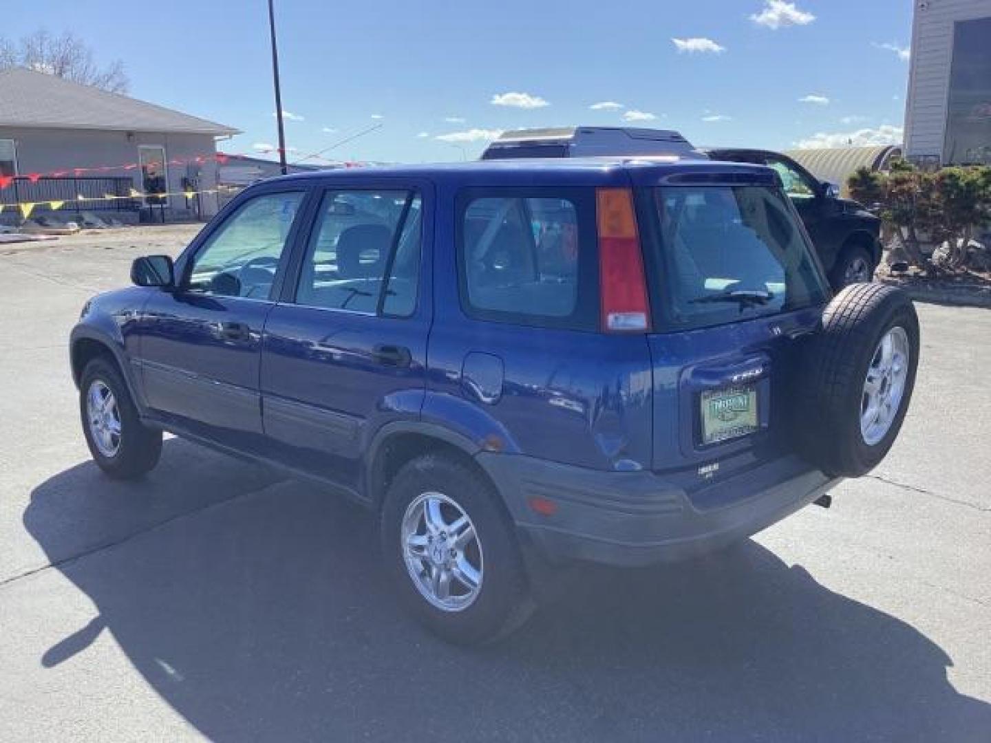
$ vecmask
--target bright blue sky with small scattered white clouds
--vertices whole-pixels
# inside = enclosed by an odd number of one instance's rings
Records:
[[[3,36],[71,26],[124,61],[135,97],[244,130],[225,151],[275,145],[265,0],[5,5]],[[910,0],[276,0],[276,14],[290,159],[376,124],[326,157],[475,158],[504,129],[624,121],[788,149],[897,139],[904,117]]]

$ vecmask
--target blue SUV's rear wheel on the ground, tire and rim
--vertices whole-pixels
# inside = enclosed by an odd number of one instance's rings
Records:
[[[492,484],[443,454],[404,465],[385,493],[385,570],[428,629],[461,645],[493,642],[532,611],[522,557]]]

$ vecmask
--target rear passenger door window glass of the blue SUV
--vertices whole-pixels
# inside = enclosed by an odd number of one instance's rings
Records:
[[[296,302],[406,317],[416,307],[423,204],[406,190],[328,191]]]

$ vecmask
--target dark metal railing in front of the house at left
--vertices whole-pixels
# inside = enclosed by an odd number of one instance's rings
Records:
[[[104,176],[41,176],[30,178],[18,176],[6,188],[0,189],[0,205],[41,203],[46,201],[64,202],[59,211],[139,211],[140,198],[131,197],[134,180],[128,177]],[[107,196],[124,198],[108,199]]]

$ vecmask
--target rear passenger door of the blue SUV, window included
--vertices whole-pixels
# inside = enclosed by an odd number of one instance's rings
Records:
[[[361,453],[385,423],[414,419],[431,306],[427,184],[331,186],[266,323],[266,436],[287,464],[360,489]]]

